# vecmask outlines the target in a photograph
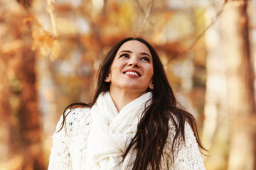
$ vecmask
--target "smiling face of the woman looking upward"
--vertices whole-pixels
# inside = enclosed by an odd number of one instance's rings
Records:
[[[124,42],[119,47],[110,67],[109,77],[111,90],[127,90],[144,93],[151,86],[153,60],[151,52],[144,43],[137,40]]]

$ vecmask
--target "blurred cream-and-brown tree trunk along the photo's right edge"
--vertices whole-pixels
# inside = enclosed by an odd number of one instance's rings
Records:
[[[228,1],[223,13],[223,36],[231,120],[228,169],[255,169],[255,132],[247,123],[255,114],[254,72],[246,1]]]

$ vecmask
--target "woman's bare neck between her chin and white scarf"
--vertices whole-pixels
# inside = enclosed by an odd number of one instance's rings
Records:
[[[142,96],[142,91],[124,91],[124,90],[112,90],[110,88],[110,96],[114,101],[114,105],[117,107],[117,111],[121,111],[131,101],[134,101],[139,96]]]

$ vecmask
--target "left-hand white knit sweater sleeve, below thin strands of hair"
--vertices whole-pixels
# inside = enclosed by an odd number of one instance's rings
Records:
[[[66,113],[69,111],[70,110],[66,111]],[[53,134],[53,147],[50,151],[48,170],[73,169],[69,150],[69,146],[71,144],[70,139],[72,138],[71,135],[73,134],[73,112],[74,111],[70,111],[69,115],[66,117],[66,123],[60,132],[58,132],[58,130],[60,129],[61,123],[63,122],[63,116],[61,116],[57,124],[56,131]]]

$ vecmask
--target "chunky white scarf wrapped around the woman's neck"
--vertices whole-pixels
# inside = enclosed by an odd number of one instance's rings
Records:
[[[110,93],[100,94],[91,108],[92,125],[87,140],[87,169],[125,169],[121,163],[124,152],[137,132],[137,124],[145,104],[149,106],[151,103],[151,96],[151,92],[143,94],[118,113]]]

